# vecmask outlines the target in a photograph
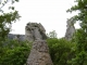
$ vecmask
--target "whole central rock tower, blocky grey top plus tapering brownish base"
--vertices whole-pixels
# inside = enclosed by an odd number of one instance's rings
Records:
[[[28,23],[26,25],[25,39],[34,41],[26,65],[53,65],[46,42],[46,30],[40,23]]]

